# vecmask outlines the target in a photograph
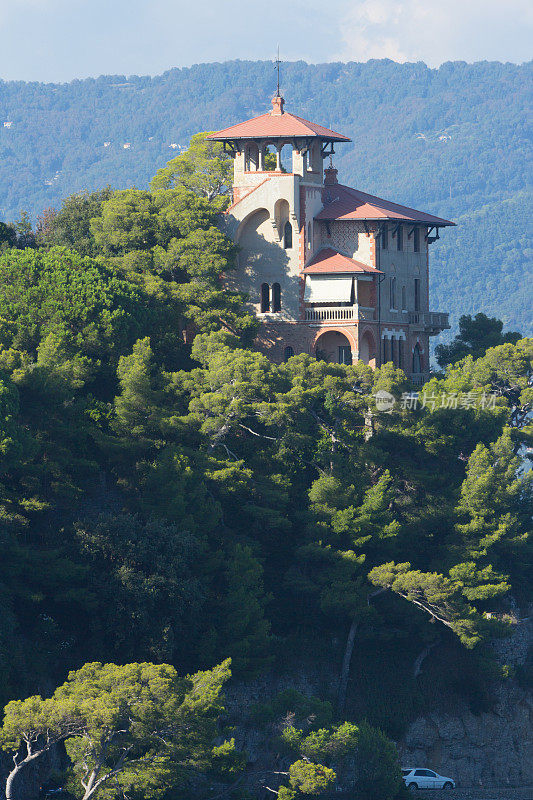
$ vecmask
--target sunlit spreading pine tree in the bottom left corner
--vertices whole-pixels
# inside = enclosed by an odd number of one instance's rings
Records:
[[[84,800],[143,787],[162,796],[154,773],[168,780],[171,770],[183,783],[210,763],[229,663],[188,678],[166,664],[85,664],[51,698],[8,703],[0,742],[14,751],[24,743],[38,758],[64,741]]]

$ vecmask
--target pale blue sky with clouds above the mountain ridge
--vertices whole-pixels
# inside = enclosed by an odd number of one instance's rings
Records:
[[[0,79],[232,59],[529,61],[532,0],[0,0]]]

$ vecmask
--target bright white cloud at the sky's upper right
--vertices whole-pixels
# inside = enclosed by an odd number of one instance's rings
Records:
[[[533,56],[530,0],[356,0],[342,24],[340,60],[512,60]]]

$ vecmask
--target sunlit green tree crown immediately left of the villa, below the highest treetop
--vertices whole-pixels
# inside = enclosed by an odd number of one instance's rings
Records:
[[[170,294],[181,312],[177,328],[229,329],[247,341],[256,321],[244,311],[243,296],[221,285],[221,275],[235,267],[237,248],[217,221],[213,204],[183,186],[127,189],[102,203],[91,231],[117,267],[137,281],[143,275],[147,289]]]

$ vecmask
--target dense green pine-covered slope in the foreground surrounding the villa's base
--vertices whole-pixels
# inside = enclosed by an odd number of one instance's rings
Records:
[[[410,720],[531,687],[533,340],[271,363],[185,158],[0,228],[0,786],[400,800]]]

